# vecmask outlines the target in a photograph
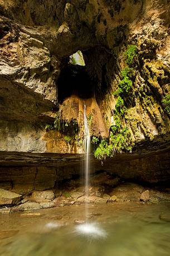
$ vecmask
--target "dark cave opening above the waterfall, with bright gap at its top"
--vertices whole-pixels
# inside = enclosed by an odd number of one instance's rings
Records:
[[[57,80],[59,104],[71,95],[76,95],[81,99],[94,96],[94,83],[86,69],[84,55],[78,50],[69,58],[69,62],[66,62]]]

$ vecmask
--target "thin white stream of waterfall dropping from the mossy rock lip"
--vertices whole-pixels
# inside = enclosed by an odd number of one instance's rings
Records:
[[[90,132],[88,119],[86,117],[86,105],[84,105],[84,147],[85,147],[85,193],[89,192],[89,173],[90,173]]]

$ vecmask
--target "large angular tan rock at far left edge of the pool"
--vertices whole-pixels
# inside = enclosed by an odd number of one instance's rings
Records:
[[[0,205],[4,204],[17,204],[21,201],[22,196],[20,194],[0,189]]]

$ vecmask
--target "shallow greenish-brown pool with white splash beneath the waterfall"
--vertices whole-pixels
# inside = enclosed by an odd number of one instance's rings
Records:
[[[110,203],[0,216],[3,256],[169,256],[170,204]]]

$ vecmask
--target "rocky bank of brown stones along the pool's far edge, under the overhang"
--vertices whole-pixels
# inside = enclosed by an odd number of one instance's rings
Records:
[[[72,206],[84,203],[116,203],[141,202],[160,203],[170,202],[170,189],[162,187],[150,188],[122,181],[120,178],[99,173],[91,177],[88,193],[85,192],[81,180],[61,182],[58,187],[46,190],[33,190],[21,195],[0,189],[0,213],[16,211],[34,211],[43,208]]]

